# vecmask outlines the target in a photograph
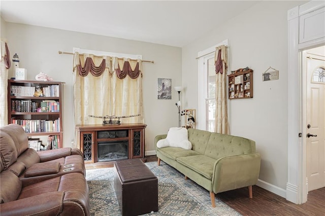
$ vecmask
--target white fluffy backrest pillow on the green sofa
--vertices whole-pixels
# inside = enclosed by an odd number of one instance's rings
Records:
[[[157,142],[158,148],[179,147],[182,149],[192,149],[192,143],[188,141],[187,129],[184,127],[172,127],[169,129],[166,139]]]

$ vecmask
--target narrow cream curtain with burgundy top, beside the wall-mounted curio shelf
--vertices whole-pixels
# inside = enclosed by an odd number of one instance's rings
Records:
[[[230,134],[230,128],[228,123],[228,97],[227,97],[227,48],[222,45],[216,47],[215,51],[215,68],[216,68],[216,80],[215,80],[215,132]]]

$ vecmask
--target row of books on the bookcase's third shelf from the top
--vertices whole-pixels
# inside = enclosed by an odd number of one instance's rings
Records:
[[[60,118],[56,120],[26,120],[26,119],[11,119],[12,124],[22,126],[26,133],[40,133],[40,132],[59,132]]]

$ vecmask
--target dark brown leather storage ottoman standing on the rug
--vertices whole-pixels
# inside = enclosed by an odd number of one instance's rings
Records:
[[[158,179],[141,159],[114,162],[114,189],[122,215],[158,211]]]

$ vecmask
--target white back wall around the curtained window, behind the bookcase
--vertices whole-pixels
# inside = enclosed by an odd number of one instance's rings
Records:
[[[143,60],[143,107],[146,128],[146,149],[154,151],[154,137],[177,126],[177,92],[171,100],[158,100],[157,78],[171,78],[172,86],[181,84],[181,48],[104,37],[53,28],[6,23],[10,53],[19,55],[19,66],[27,69],[27,79],[35,80],[42,71],[54,81],[64,82],[63,137],[64,147],[71,147],[74,138],[73,120],[73,56],[59,55],[58,51],[72,52],[73,47],[116,53],[141,54]],[[13,68],[9,78],[14,77]],[[94,104],[95,105],[95,104]],[[91,115],[91,114],[90,114]]]

